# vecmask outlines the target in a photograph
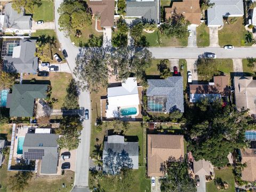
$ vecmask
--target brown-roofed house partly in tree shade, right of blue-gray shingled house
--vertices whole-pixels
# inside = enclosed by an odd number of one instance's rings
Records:
[[[213,83],[205,85],[189,85],[190,102],[200,102],[203,98],[214,100],[221,97],[228,97],[229,86],[227,76],[214,76]]]

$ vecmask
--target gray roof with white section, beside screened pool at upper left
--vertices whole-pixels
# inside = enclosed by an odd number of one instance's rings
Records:
[[[21,39],[12,56],[3,57],[3,70],[7,73],[37,73],[38,57],[35,57],[36,40]]]

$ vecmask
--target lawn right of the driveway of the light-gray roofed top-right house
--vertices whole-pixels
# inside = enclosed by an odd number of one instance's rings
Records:
[[[228,22],[230,23],[230,20],[234,18],[228,18]],[[234,46],[251,46],[252,44],[246,43],[245,37],[251,36],[252,33],[249,33],[245,30],[243,25],[243,17],[237,17],[237,21],[235,21],[233,24],[226,23],[225,20],[223,20],[224,27],[223,29],[219,30],[219,45],[234,45]]]

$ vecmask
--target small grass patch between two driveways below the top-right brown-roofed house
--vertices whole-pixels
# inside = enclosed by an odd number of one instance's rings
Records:
[[[202,47],[210,45],[209,27],[204,23],[196,28],[196,43]]]

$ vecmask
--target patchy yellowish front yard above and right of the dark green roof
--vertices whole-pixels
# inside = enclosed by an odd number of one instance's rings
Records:
[[[72,78],[71,74],[68,73],[54,73],[50,72],[48,77],[38,77],[37,75],[24,75],[23,83],[30,84],[29,81],[35,78],[37,81],[35,84],[49,84],[52,87],[51,98],[58,99],[58,102],[53,103],[53,109],[61,109],[63,106],[65,97],[66,97],[66,89],[69,85],[69,81]]]

